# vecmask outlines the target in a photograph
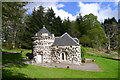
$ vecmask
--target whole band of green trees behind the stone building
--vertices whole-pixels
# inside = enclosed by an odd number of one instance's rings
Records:
[[[61,20],[52,8],[43,6],[37,10],[34,8],[32,15],[25,14],[25,5],[20,2],[3,3],[3,45],[9,49],[31,49],[32,37],[43,25],[55,36],[67,32],[77,37],[85,47],[117,49],[118,26],[115,18],[105,19],[101,24],[97,16],[91,13],[85,16],[79,14],[75,21],[70,21],[69,17]]]

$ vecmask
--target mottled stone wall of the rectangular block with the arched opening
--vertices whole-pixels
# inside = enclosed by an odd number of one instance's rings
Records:
[[[61,59],[61,54],[65,55],[65,60]],[[56,63],[81,63],[80,46],[53,46],[52,47],[52,62]]]

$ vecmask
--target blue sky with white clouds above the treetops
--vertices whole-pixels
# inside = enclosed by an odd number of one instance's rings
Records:
[[[62,20],[69,19],[75,20],[76,16],[81,13],[82,16],[87,14],[94,14],[97,16],[98,21],[104,22],[104,19],[115,17],[118,20],[118,2],[33,2],[25,6],[27,14],[32,14],[33,9],[37,10],[38,6],[53,8],[56,13],[55,16],[60,16]]]

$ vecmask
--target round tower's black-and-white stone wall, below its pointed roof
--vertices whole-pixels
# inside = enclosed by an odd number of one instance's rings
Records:
[[[35,62],[47,63],[51,62],[51,45],[54,42],[54,37],[50,36],[41,36],[34,37],[33,41],[33,54]],[[41,60],[38,59],[38,56],[41,55]]]

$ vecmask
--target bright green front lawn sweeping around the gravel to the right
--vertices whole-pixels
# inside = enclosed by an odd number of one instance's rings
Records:
[[[118,61],[85,55],[95,59],[103,72],[81,71],[64,68],[45,68],[40,66],[17,64],[3,67],[3,78],[117,78]]]

